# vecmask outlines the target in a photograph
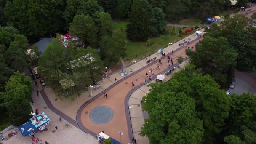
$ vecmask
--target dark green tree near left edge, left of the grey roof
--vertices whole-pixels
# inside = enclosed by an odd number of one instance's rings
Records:
[[[21,71],[28,66],[26,55],[28,40],[24,35],[14,34],[14,40],[4,52],[5,61],[8,67]]]

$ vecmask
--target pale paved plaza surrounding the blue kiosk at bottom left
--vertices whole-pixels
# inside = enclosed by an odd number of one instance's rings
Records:
[[[69,124],[69,126],[66,126],[64,124],[66,121],[64,118],[59,121],[59,115],[47,107],[41,94],[37,96],[37,91],[33,92],[32,99],[34,100],[34,105],[32,105],[33,109],[38,108],[39,112],[45,112],[48,117],[51,117],[50,125],[47,126],[45,132],[40,133],[40,131],[37,131],[35,133],[35,137],[42,140],[43,144],[45,144],[45,141],[48,141],[50,144],[98,144],[96,137],[84,133],[76,127],[77,125]],[[55,126],[58,127],[58,130],[55,129]],[[31,144],[31,137],[22,136],[17,129],[17,135],[9,137],[8,134],[13,130],[14,129],[11,129],[3,133],[3,136],[8,138],[6,141],[1,141],[3,144]]]

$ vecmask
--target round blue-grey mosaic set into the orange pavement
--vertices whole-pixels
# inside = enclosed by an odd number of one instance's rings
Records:
[[[98,125],[108,123],[114,115],[113,110],[107,106],[94,107],[90,112],[90,120]]]

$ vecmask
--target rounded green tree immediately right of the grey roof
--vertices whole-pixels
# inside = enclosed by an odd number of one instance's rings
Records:
[[[61,70],[66,69],[67,59],[64,54],[62,43],[54,38],[51,43],[46,46],[38,62],[38,73],[47,77],[48,81],[59,83],[61,80]]]

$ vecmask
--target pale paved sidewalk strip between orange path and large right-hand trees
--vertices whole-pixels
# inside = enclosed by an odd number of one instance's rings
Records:
[[[187,64],[188,61],[184,61],[182,64],[180,64],[180,67],[175,69],[175,72],[178,72],[179,70],[183,69],[185,67],[185,64]],[[165,75],[165,79],[163,80],[163,83],[168,81],[173,74],[170,74],[168,76]],[[144,119],[148,119],[147,112],[143,112],[141,108],[141,99],[143,96],[146,95],[146,93],[149,93],[150,89],[152,89],[150,86],[148,86],[150,83],[155,83],[155,80],[152,82],[147,83],[147,85],[143,85],[141,88],[134,91],[130,98],[129,98],[129,110],[130,110],[130,117],[131,117],[131,123],[132,123],[132,129],[133,129],[133,136],[137,140],[138,144],[149,144],[149,140],[147,137],[140,136],[139,133],[141,132],[141,127],[145,123]]]

